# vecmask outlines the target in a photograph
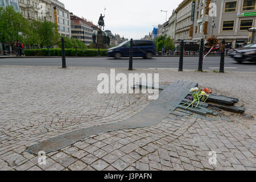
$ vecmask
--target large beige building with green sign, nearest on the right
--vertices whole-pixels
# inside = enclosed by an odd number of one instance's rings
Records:
[[[255,27],[256,0],[196,0],[193,40],[215,35],[233,48],[247,43],[248,29]]]

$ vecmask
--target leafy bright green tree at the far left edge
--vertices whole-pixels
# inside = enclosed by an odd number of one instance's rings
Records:
[[[11,43],[14,40],[23,41],[28,34],[29,23],[12,6],[0,7],[0,42]]]

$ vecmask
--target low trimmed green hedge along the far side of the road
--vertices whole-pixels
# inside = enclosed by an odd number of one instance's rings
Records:
[[[26,56],[48,56],[48,49],[24,49]],[[66,56],[76,56],[76,49],[65,49]],[[100,49],[100,55],[106,56],[106,49]],[[60,48],[49,49],[49,56],[62,56]],[[77,49],[77,56],[98,56],[98,49]]]

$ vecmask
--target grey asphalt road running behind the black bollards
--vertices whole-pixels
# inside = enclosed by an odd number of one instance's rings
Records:
[[[183,69],[197,69],[199,57],[184,57]],[[36,65],[36,66],[60,66],[61,58],[8,58],[0,59],[0,65]],[[68,67],[102,67],[102,68],[128,68],[129,59],[122,58],[115,60],[109,57],[67,57]],[[147,60],[134,58],[134,68],[150,69],[178,69],[179,57],[154,57]],[[218,70],[220,67],[220,57],[209,56],[205,59],[203,70]],[[238,64],[231,57],[225,57],[226,71],[246,71],[256,72],[256,63]]]

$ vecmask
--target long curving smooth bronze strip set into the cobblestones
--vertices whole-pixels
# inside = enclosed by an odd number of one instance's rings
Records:
[[[88,127],[86,129],[59,135],[28,147],[26,152],[38,155],[39,151],[44,151],[48,154],[50,152],[61,150],[64,147],[70,146],[71,144],[92,135],[156,125],[166,118],[171,111],[176,109],[177,104],[188,95],[189,89],[196,86],[198,86],[198,84],[195,82],[176,80],[172,82],[171,85],[164,88],[159,94],[158,99],[152,101],[150,105],[141,111],[141,113],[126,119],[124,122]]]

